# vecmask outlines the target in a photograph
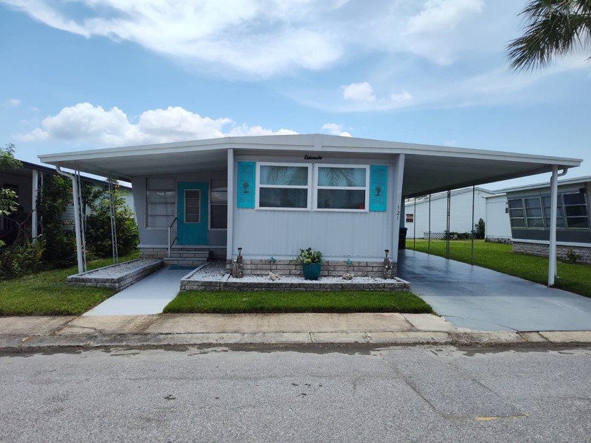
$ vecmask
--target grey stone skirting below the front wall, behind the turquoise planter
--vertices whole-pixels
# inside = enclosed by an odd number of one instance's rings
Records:
[[[231,260],[227,261],[226,269],[231,273]],[[392,262],[392,276],[398,275],[397,263]],[[302,265],[291,260],[276,260],[271,262],[269,259],[243,259],[243,274],[245,276],[267,276],[269,271],[273,271],[280,276],[300,276],[303,277]],[[381,277],[383,274],[383,262],[352,262],[347,266],[343,260],[326,260],[322,263],[320,271],[321,277],[341,277],[345,272],[355,277]]]

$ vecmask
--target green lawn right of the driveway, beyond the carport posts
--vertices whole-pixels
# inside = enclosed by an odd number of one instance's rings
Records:
[[[406,245],[407,249],[412,249],[413,240],[407,239]],[[427,240],[416,240],[417,251],[427,252],[427,247]],[[445,257],[445,240],[431,240],[431,254]],[[470,263],[470,257],[470,240],[450,241],[451,259]],[[511,245],[475,240],[474,264],[536,283],[547,284],[548,282],[548,257],[518,254],[513,252]],[[558,262],[557,268],[559,278],[554,284],[555,288],[591,297],[590,264]]]

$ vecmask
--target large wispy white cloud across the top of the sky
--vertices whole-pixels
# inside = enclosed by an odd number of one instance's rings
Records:
[[[226,75],[234,70],[263,77],[322,70],[367,51],[437,60],[445,49],[445,58],[452,59],[466,44],[478,48],[471,39],[459,43],[455,31],[484,5],[484,0],[372,0],[369,7],[364,0],[0,2],[86,38],[132,41]]]

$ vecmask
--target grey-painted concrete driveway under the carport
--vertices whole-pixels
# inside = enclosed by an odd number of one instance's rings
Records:
[[[490,269],[400,250],[398,276],[459,328],[591,330],[591,298]]]

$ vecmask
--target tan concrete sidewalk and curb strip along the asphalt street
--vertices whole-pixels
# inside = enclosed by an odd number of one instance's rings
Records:
[[[323,343],[556,345],[591,343],[583,332],[461,330],[431,314],[160,314],[0,317],[0,349]]]

